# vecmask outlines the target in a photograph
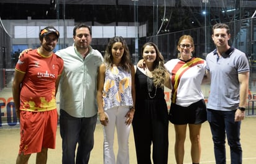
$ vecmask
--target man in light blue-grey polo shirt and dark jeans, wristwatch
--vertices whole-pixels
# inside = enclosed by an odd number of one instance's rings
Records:
[[[226,164],[226,136],[231,163],[242,163],[240,126],[245,116],[250,67],[245,53],[228,45],[230,37],[226,24],[214,25],[212,38],[216,50],[206,56],[206,69],[211,76],[207,118],[216,164]]]

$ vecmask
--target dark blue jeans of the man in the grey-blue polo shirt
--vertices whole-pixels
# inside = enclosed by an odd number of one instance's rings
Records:
[[[226,164],[225,139],[231,150],[231,164],[242,163],[242,148],[240,144],[241,122],[235,122],[234,111],[217,111],[207,109],[207,118],[211,127],[214,142],[216,164]]]

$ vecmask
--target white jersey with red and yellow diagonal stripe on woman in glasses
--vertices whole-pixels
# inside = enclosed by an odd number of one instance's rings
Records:
[[[206,71],[206,61],[191,58],[189,61],[171,59],[165,63],[171,75],[171,102],[180,106],[190,106],[204,99],[201,83]]]

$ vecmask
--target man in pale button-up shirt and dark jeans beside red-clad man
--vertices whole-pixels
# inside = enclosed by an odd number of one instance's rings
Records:
[[[76,25],[73,40],[72,46],[56,52],[64,61],[60,80],[62,163],[85,164],[94,145],[97,72],[103,56],[90,46],[92,37],[88,25]]]

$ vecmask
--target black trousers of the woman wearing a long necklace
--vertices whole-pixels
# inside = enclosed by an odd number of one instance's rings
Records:
[[[151,145],[153,144],[152,159],[154,164],[168,163],[168,119],[134,118],[132,122],[137,164],[151,164]]]

